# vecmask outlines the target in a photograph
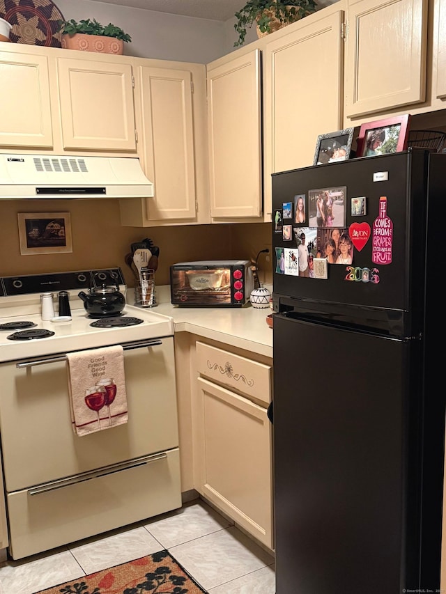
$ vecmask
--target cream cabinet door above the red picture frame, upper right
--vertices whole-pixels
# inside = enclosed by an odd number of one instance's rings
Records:
[[[424,101],[427,5],[428,0],[348,4],[346,124]]]

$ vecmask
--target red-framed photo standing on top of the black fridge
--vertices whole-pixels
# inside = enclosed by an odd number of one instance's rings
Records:
[[[367,122],[360,127],[357,137],[357,157],[390,155],[406,150],[410,114]]]

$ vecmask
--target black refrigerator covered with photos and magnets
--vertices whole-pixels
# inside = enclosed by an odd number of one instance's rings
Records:
[[[446,155],[275,173],[272,201],[276,594],[438,593]]]

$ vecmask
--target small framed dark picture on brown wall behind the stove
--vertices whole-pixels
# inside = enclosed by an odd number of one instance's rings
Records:
[[[20,254],[72,252],[69,212],[17,212]]]

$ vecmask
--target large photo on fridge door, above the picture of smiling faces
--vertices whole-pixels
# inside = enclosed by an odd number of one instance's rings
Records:
[[[346,186],[309,190],[309,226],[345,227],[346,195]]]

